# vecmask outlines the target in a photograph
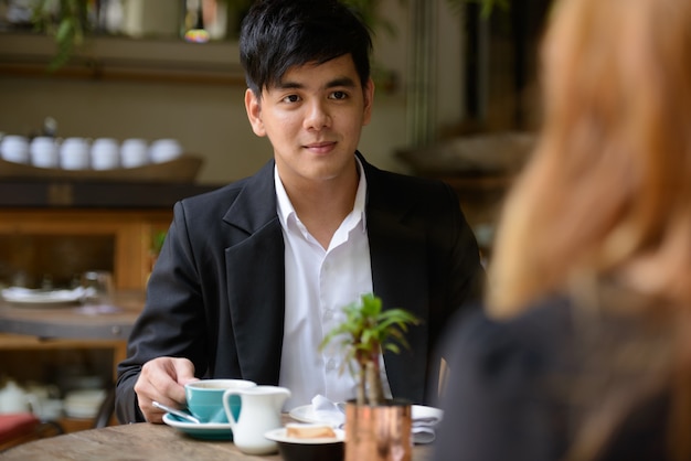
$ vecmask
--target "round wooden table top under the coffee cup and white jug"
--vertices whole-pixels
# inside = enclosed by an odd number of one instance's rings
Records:
[[[110,426],[42,439],[0,454],[3,461],[25,460],[281,460],[279,454],[243,454],[231,441],[193,439],[166,425],[140,422]],[[415,446],[413,461],[432,459],[432,446]],[[363,460],[364,461],[364,460]]]

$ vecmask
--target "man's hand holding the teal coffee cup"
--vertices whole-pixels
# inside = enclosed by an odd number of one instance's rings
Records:
[[[187,358],[158,357],[143,364],[135,384],[135,393],[143,417],[149,422],[163,422],[163,410],[153,400],[174,408],[184,408],[184,385],[199,380],[194,365]]]

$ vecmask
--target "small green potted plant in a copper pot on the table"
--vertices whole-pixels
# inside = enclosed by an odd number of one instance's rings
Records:
[[[358,378],[358,396],[346,406],[346,460],[389,460],[393,453],[412,454],[411,404],[387,400],[383,394],[380,356],[383,351],[400,353],[408,347],[408,325],[419,320],[403,309],[383,309],[372,293],[343,308],[346,319],[323,339],[321,349],[332,341],[344,351],[341,372],[348,366]]]

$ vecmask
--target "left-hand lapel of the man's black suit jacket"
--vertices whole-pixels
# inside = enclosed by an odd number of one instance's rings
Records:
[[[238,194],[224,221],[227,297],[243,377],[278,384],[284,332],[284,239],[276,214],[274,162]]]

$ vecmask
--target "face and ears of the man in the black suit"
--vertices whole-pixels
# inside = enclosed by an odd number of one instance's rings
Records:
[[[374,85],[363,88],[348,54],[289,68],[245,107],[257,136],[266,136],[284,184],[353,174],[362,127],[370,122]]]

